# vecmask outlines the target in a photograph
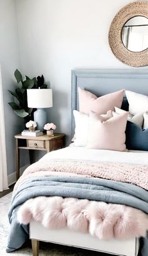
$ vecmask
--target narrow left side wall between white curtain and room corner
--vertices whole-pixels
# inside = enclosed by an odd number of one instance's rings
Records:
[[[13,0],[0,0],[0,65],[3,82],[4,118],[8,174],[15,172],[14,135],[20,131],[21,120],[8,102],[12,100],[8,89],[14,89],[14,70],[19,67],[16,7]],[[11,179],[11,177],[10,177]]]

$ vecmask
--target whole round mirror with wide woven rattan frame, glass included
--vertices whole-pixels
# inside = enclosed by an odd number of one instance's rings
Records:
[[[140,21],[139,21],[140,19]],[[117,57],[124,64],[133,66],[133,67],[142,67],[148,65],[148,2],[134,2],[127,4],[115,15],[115,18],[110,25],[108,42],[112,52],[115,57]],[[141,36],[145,37],[145,43],[135,48],[135,43],[132,47],[128,47],[127,40],[128,36],[125,34],[125,31],[128,30],[127,27],[140,25],[140,30],[144,31]],[[142,26],[141,26],[142,25]],[[136,28],[137,29],[137,28]],[[133,29],[134,31],[134,29]],[[141,33],[141,32],[140,32]],[[135,36],[133,42],[137,35],[130,34]],[[130,37],[131,38],[131,37]],[[138,39],[140,40],[140,39]],[[131,40],[130,40],[131,41]],[[144,40],[142,39],[142,42]],[[131,43],[130,43],[131,45]]]

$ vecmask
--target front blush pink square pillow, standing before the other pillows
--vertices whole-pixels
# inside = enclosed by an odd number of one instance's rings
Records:
[[[125,151],[125,128],[128,113],[105,120],[100,114],[90,111],[87,147]]]

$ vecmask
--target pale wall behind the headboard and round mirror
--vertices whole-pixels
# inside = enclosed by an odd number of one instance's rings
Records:
[[[129,0],[16,0],[21,70],[44,74],[53,89],[49,121],[69,135],[71,69],[119,68],[108,30]]]

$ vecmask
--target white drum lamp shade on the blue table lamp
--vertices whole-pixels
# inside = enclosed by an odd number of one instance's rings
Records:
[[[53,106],[52,89],[27,89],[28,108],[50,108]]]

